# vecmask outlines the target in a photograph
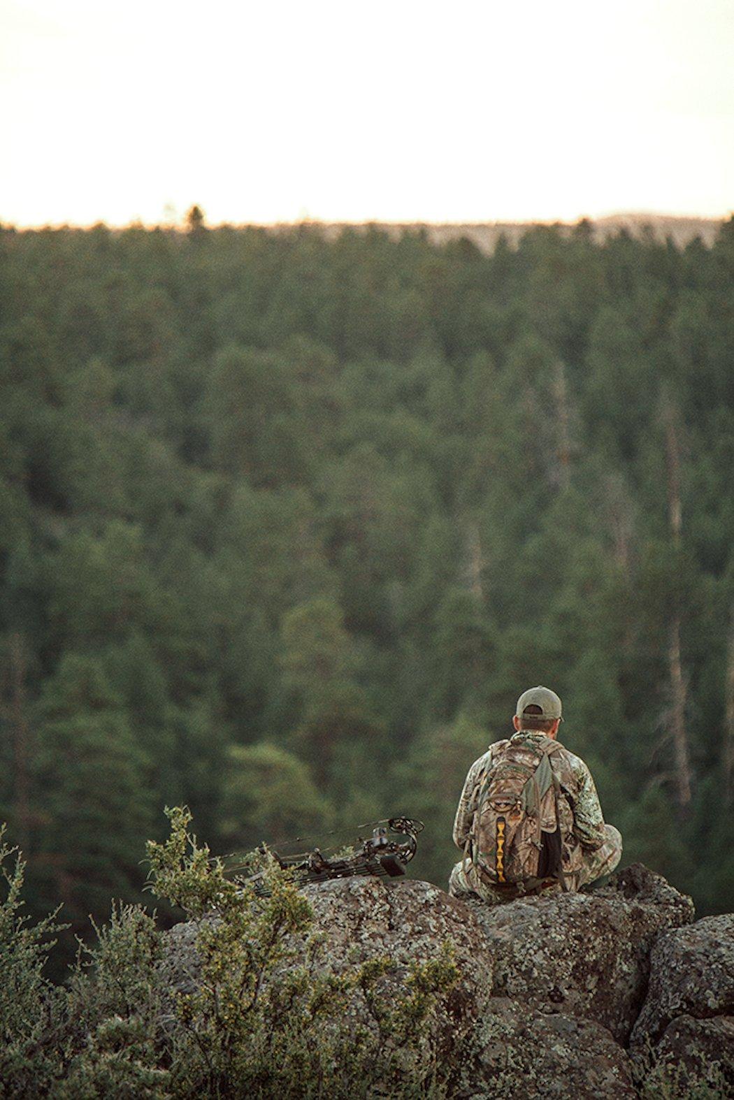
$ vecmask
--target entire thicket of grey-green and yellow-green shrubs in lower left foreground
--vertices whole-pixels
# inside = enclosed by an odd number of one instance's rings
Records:
[[[175,978],[171,938],[139,906],[118,905],[97,943],[79,946],[67,986],[43,977],[53,919],[18,917],[22,862],[1,911],[2,1091],[63,1100],[194,1097],[440,1097],[449,1087],[431,1022],[458,978],[450,946],[412,967],[373,958],[335,975],[307,899],[267,855],[266,895],[228,878],[189,833],[186,810],[149,845],[150,888],[195,933],[193,980]],[[3,859],[11,853],[2,849]],[[12,991],[17,991],[13,993]]]

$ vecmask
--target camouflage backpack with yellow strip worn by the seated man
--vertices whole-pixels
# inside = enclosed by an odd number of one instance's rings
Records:
[[[565,791],[576,779],[562,745],[506,741],[480,776],[471,836],[472,861],[490,884],[533,889],[576,869],[573,811]],[[558,758],[559,777],[550,765]]]

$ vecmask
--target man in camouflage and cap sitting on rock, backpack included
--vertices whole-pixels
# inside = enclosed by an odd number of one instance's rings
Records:
[[[620,862],[622,837],[605,825],[591,772],[556,740],[561,701],[530,688],[510,740],[469,769],[453,824],[464,853],[449,878],[454,898],[490,904],[523,894],[578,891]]]

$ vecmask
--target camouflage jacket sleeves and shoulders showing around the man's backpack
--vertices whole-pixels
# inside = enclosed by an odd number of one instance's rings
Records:
[[[535,741],[537,745],[543,745],[548,740],[548,738],[545,734],[536,733],[535,730],[523,730],[521,733],[513,734],[512,740],[515,743],[518,740],[528,740]],[[461,799],[459,800],[457,816],[453,822],[453,843],[461,849],[463,849],[467,844],[467,838],[469,837],[472,826],[474,810],[476,809],[472,804],[472,799],[474,796],[474,792],[476,791],[479,778],[483,771],[487,770],[497,754],[502,752],[507,745],[510,745],[510,741],[506,740],[495,741],[493,745],[490,745],[484,756],[481,756],[479,760],[475,760],[469,769],[469,774],[467,776],[463,791],[461,792]],[[591,778],[591,772],[587,768],[583,760],[581,760],[580,757],[574,756],[572,752],[569,752],[565,746],[561,746],[560,752],[554,752],[549,758],[555,772],[559,771],[558,758],[560,756],[566,758],[576,778],[577,789],[574,791],[569,791],[563,784],[561,784],[561,791],[568,799],[571,810],[573,811],[573,833],[578,837],[579,843],[584,850],[595,851],[604,844],[606,834],[604,832],[604,817],[602,814],[602,807],[599,803],[599,795],[596,794],[594,781]]]

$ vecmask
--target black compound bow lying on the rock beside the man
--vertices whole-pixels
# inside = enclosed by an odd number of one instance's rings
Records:
[[[320,848],[297,856],[280,856],[272,848],[261,850],[267,850],[280,867],[292,871],[298,886],[327,882],[330,879],[347,879],[358,875],[388,878],[405,875],[405,867],[418,848],[417,836],[423,832],[423,822],[414,817],[390,817],[373,824],[375,827],[372,836],[366,839],[358,837],[353,851],[348,855],[329,858]],[[405,839],[398,840],[388,836],[388,831],[397,833]],[[254,883],[256,893],[265,895],[269,891],[264,884],[255,881],[261,877],[254,875],[247,881]]]

